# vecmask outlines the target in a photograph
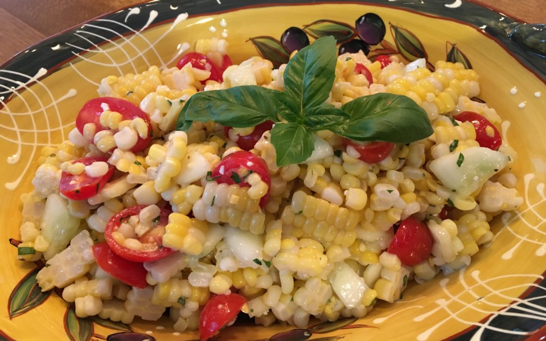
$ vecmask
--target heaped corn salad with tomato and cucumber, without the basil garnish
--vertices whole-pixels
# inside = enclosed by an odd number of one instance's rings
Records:
[[[210,60],[222,60],[227,43],[200,40],[197,47]],[[372,84],[355,74],[357,63],[369,69]],[[193,94],[239,85],[282,91],[285,68],[252,57],[225,69],[223,81],[191,63],[103,79],[100,125],[74,128],[68,141],[43,148],[34,190],[21,198],[19,258],[46,260],[37,275],[40,288],[64,288],[64,300],[75,302],[82,318],[130,323],[157,320],[168,310],[176,331],[197,329],[213,295],[237,292],[246,298],[242,311],[257,324],[305,328],[313,317],[361,318],[377,300],[400,300],[410,280],[422,283],[467,266],[492,240],[491,219],[522,204],[510,171],[513,149],[506,141],[498,152],[480,147],[472,123],[454,118],[473,111],[501,122],[494,109],[472,100],[479,76],[460,63],[437,62],[430,71],[407,68],[396,56],[385,67],[362,52],[339,56],[328,103],[340,107],[381,92],[406,95],[434,129],[424,140],[391,146],[375,162],[361,159],[361,145],[329,130],[315,134],[329,152],[282,167],[270,128],[250,152],[241,151],[238,140],[256,134],[255,127],[224,130],[194,122],[187,132],[174,130]],[[127,117],[114,99],[138,106],[145,117]],[[137,150],[145,139],[149,143]],[[229,177],[224,165],[241,153],[254,155],[261,168],[222,180]],[[498,169],[474,171],[471,183],[461,186],[454,180],[498,155],[506,158],[497,160]],[[101,159],[86,165],[79,161],[85,157]],[[454,169],[462,157],[465,163]],[[100,178],[109,169],[114,175],[84,200],[60,193],[64,177]],[[133,207],[139,210],[124,213]],[[429,236],[430,249],[408,260],[395,238],[414,221]],[[101,267],[94,244],[105,241],[118,247],[112,257],[138,263],[141,278],[124,279]],[[145,253],[157,257],[138,258]]]

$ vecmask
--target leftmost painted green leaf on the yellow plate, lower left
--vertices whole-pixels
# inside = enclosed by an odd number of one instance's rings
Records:
[[[9,318],[14,318],[25,314],[29,310],[38,307],[44,303],[51,295],[51,291],[42,292],[36,280],[36,274],[40,268],[35,268],[23,277],[13,291],[8,300]]]

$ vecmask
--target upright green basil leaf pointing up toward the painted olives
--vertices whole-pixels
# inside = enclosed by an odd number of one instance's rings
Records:
[[[336,40],[329,36],[305,46],[286,65],[284,91],[298,103],[300,118],[308,108],[327,100],[334,85],[336,61]]]

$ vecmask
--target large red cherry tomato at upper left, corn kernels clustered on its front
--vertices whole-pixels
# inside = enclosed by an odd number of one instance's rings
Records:
[[[122,120],[133,119],[136,117],[144,119],[144,122],[146,122],[148,127],[148,132],[151,133],[152,124],[150,123],[150,117],[147,115],[147,113],[140,110],[138,106],[121,98],[97,97],[88,100],[87,103],[81,107],[80,112],[76,117],[76,128],[78,128],[80,134],[84,134],[84,126],[87,123],[94,123],[97,127],[96,132],[109,129],[108,127],[104,127],[102,124],[100,124],[100,114],[104,111],[100,105],[103,103],[108,104],[111,111],[121,113]],[[147,135],[145,139],[138,136],[138,139],[136,140],[133,148],[131,148],[131,151],[140,152],[149,145],[151,139],[152,137],[150,135]]]

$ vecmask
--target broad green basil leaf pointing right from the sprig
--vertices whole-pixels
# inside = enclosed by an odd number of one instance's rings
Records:
[[[341,110],[351,118],[331,130],[355,141],[407,143],[434,133],[426,112],[406,96],[377,93],[343,104]]]

